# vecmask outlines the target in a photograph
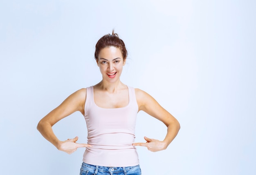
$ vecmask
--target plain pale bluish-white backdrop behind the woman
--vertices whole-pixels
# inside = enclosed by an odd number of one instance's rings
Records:
[[[99,38],[126,43],[121,81],[181,124],[169,147],[138,147],[143,175],[256,173],[256,2],[253,0],[0,1],[0,174],[79,174],[85,148],[58,151],[36,130],[74,91],[97,84]],[[58,122],[86,143],[83,115]],[[143,112],[136,142],[166,127]]]

